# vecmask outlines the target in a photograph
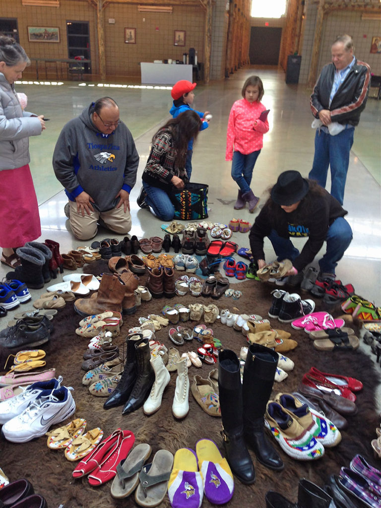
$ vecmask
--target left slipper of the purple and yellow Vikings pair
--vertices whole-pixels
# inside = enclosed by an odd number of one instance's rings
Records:
[[[204,487],[197,456],[189,448],[175,453],[168,482],[168,497],[173,508],[200,508]]]

